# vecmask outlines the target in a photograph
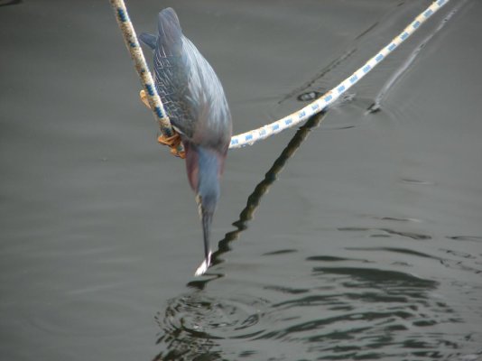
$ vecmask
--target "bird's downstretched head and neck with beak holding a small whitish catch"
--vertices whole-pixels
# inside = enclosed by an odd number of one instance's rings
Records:
[[[190,144],[186,149],[186,166],[190,186],[196,193],[196,202],[201,218],[205,262],[197,274],[206,271],[210,264],[210,229],[214,211],[220,196],[219,180],[226,155],[214,149]]]

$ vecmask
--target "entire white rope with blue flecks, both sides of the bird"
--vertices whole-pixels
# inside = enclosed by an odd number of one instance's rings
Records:
[[[349,88],[353,87],[357,82],[366,76],[376,65],[385,60],[392,51],[407,40],[413,32],[415,32],[431,15],[435,14],[443,5],[449,3],[450,0],[436,0],[422,14],[419,14],[400,34],[398,34],[392,42],[388,43],[381,51],[379,51],[373,58],[366,61],[360,69],[357,69],[348,79],[343,80],[335,88],[329,90],[323,96],[319,97],[308,106],[304,106],[297,112],[292,113],[289,116],[284,116],[280,120],[277,120],[269,125],[264,125],[260,128],[251,130],[243,134],[233,135],[229,149],[241,148],[246,145],[252,145],[262,139],[266,139],[273,134],[278,134],[285,129],[292,126],[299,125],[311,116],[326,110],[329,105],[333,104],[338,97],[345,93]],[[144,54],[137,41],[135,35],[134,26],[129,19],[127,9],[124,4],[124,0],[110,0],[115,13],[117,23],[122,31],[125,45],[131,53],[131,57],[134,60],[135,69],[139,74],[143,88],[147,94],[149,105],[153,109],[153,114],[159,124],[162,134],[165,137],[171,137],[173,130],[168,116],[166,115],[162,106],[161,98],[157,94],[157,90],[153,85],[153,77],[147,68],[147,64],[144,59]],[[180,145],[181,147],[181,145]],[[178,151],[182,151],[178,148]]]

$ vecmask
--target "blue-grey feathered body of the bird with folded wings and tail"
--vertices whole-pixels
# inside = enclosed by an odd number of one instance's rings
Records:
[[[148,45],[154,39],[141,37]],[[185,138],[218,147],[228,143],[231,117],[216,73],[181,31],[171,8],[158,16],[154,49],[155,85],[172,125]]]

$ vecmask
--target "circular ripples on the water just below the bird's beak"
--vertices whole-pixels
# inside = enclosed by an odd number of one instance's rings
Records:
[[[218,359],[218,343],[252,339],[264,333],[267,301],[246,295],[230,298],[193,292],[171,299],[156,321],[163,351],[154,360]]]

